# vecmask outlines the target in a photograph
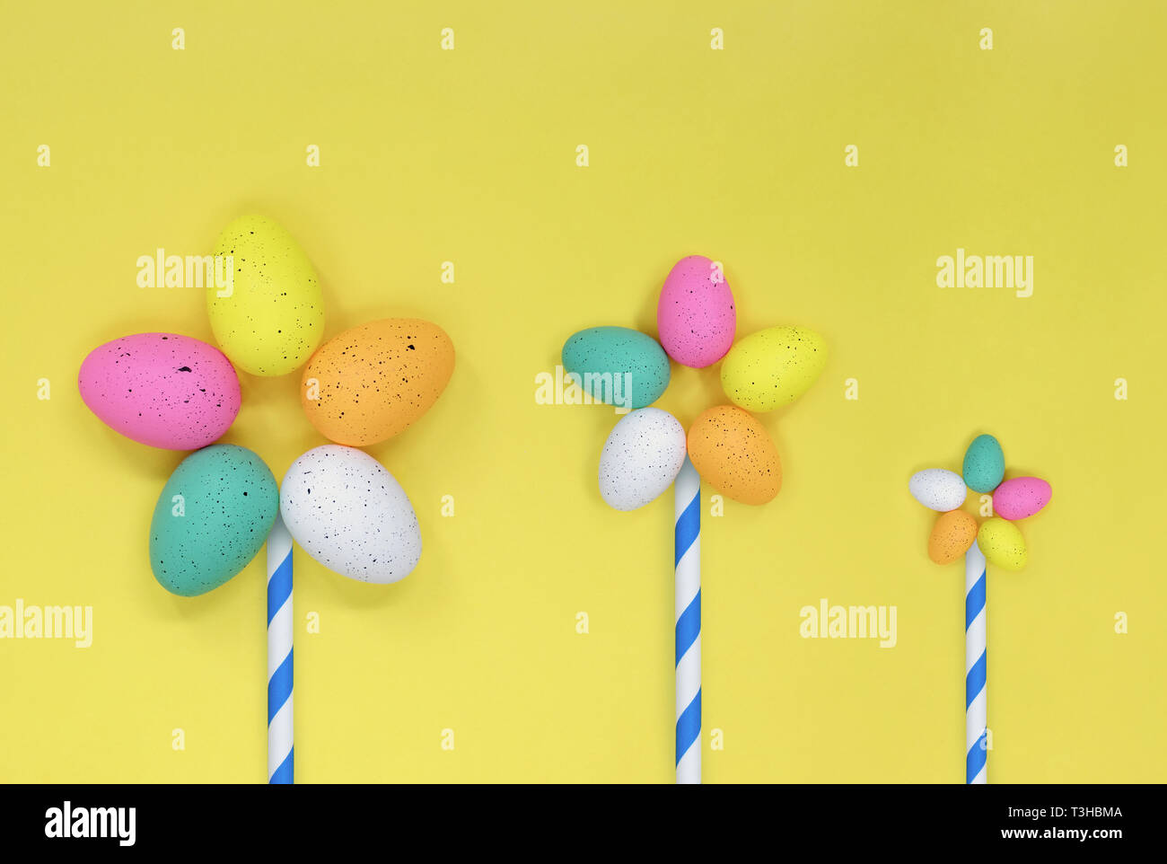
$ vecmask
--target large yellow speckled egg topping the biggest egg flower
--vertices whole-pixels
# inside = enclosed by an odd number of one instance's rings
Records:
[[[324,335],[324,301],[308,256],[264,216],[231,222],[215,255],[230,257],[226,286],[207,286],[207,314],[223,353],[252,375],[301,367]]]

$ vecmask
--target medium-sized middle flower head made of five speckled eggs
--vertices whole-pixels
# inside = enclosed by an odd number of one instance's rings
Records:
[[[777,448],[750,411],[773,411],[802,396],[826,365],[813,330],[771,327],[734,344],[738,311],[720,264],[700,255],[673,265],[657,302],[659,341],[627,327],[592,327],[564,344],[565,377],[591,399],[629,410],[600,453],[600,494],[635,510],[677,479],[686,454],[718,492],[764,504],[782,487]],[[685,433],[668,411],[649,407],[669,386],[669,360],[693,369],[721,362],[732,404],[704,411]]]

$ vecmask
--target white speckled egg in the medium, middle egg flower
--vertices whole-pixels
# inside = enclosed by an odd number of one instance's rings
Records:
[[[617,510],[661,496],[685,464],[685,427],[658,407],[624,414],[600,452],[600,495]]]

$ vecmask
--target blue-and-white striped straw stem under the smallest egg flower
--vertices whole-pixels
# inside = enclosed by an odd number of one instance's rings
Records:
[[[985,556],[973,541],[964,553],[965,781],[988,782],[988,690],[985,678]]]

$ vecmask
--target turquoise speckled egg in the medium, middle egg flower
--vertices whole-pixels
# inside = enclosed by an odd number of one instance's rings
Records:
[[[596,402],[641,409],[669,386],[669,355],[652,336],[627,327],[592,327],[564,343],[564,371]]]

